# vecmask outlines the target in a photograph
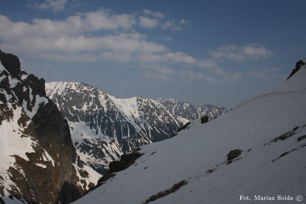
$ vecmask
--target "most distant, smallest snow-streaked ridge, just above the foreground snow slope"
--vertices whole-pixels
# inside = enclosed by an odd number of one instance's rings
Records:
[[[190,121],[201,118],[203,116],[208,116],[208,120],[212,120],[219,115],[228,112],[228,109],[223,107],[216,107],[210,104],[204,106],[194,106],[187,102],[178,102],[175,99],[162,99],[156,100],[162,105],[170,109],[175,115],[186,118]]]

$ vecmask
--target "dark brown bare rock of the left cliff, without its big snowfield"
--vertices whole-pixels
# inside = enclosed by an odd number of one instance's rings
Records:
[[[17,108],[21,110],[17,121],[18,134],[21,138],[31,138],[35,151],[26,153],[28,160],[13,155],[14,167],[10,166],[7,171],[16,186],[6,189],[9,196],[28,204],[75,201],[84,192],[84,187],[78,184],[79,178],[73,166],[77,155],[66,119],[54,102],[46,97],[45,80],[21,71],[19,59],[13,54],[0,50],[0,60],[5,68],[0,71],[0,125],[2,121],[12,121],[18,114],[15,113]],[[10,84],[9,79],[14,79],[15,84]],[[29,117],[27,113],[31,112],[33,115]],[[46,168],[37,165],[38,161]],[[86,176],[87,172],[81,173]],[[0,185],[0,189],[2,187]]]

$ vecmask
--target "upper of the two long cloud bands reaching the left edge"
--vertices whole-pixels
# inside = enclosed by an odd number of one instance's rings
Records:
[[[0,14],[0,38],[13,39],[22,36],[61,36],[76,35],[101,29],[129,29],[136,24],[131,14],[112,14],[110,10],[100,9],[96,12],[78,13],[65,20],[33,19],[32,24],[12,22]]]

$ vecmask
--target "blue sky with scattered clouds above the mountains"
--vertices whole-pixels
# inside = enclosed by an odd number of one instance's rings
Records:
[[[46,82],[233,108],[306,57],[306,0],[0,0],[0,49]]]

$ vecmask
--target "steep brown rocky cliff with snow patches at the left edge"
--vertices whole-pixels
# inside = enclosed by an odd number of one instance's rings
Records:
[[[70,203],[99,177],[77,156],[45,81],[0,50],[0,202]]]

